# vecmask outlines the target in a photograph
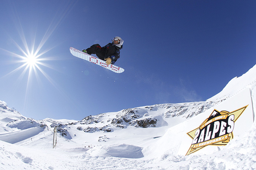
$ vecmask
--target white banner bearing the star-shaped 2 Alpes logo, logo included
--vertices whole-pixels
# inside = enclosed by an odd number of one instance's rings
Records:
[[[178,154],[215,153],[247,132],[253,119],[252,94],[249,88],[244,88],[184,124]]]

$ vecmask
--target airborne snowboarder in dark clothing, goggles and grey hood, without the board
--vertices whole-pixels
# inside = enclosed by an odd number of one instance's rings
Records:
[[[120,50],[123,48],[124,40],[120,37],[115,37],[112,40],[112,43],[108,43],[104,47],[101,47],[99,44],[94,44],[83,52],[91,55],[96,54],[97,57],[103,61],[106,61],[106,64],[115,64],[116,60],[120,58]]]

